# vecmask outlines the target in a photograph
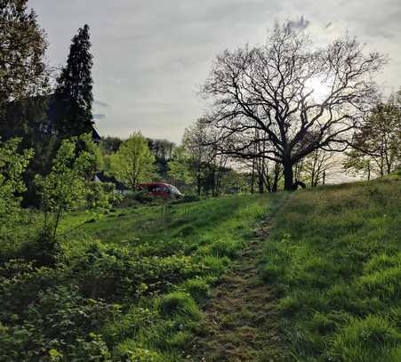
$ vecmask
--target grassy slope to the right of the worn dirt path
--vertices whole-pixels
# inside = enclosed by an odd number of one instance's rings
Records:
[[[263,277],[289,361],[401,361],[400,210],[399,180],[302,190],[281,210]]]

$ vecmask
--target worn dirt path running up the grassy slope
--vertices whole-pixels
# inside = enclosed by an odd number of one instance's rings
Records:
[[[284,203],[282,203],[283,205]],[[281,207],[280,207],[281,208]],[[205,305],[205,330],[196,337],[190,361],[280,362],[275,298],[258,275],[273,212],[245,247],[241,258]]]

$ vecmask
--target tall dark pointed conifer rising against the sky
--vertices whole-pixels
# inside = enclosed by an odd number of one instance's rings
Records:
[[[61,138],[92,132],[92,65],[89,26],[84,25],[72,39],[51,109]]]

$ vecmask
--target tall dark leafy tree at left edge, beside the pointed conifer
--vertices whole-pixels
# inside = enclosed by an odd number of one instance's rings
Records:
[[[0,134],[3,140],[20,138],[20,149],[35,149],[26,181],[31,173],[43,172],[52,144],[43,133],[49,75],[46,48],[44,30],[35,12],[28,10],[28,0],[1,1]],[[30,189],[31,184],[27,186]]]

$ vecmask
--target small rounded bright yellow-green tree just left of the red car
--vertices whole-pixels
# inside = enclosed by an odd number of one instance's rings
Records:
[[[109,158],[110,173],[125,185],[135,188],[149,180],[155,170],[155,157],[148,148],[148,141],[140,133],[132,133]]]

